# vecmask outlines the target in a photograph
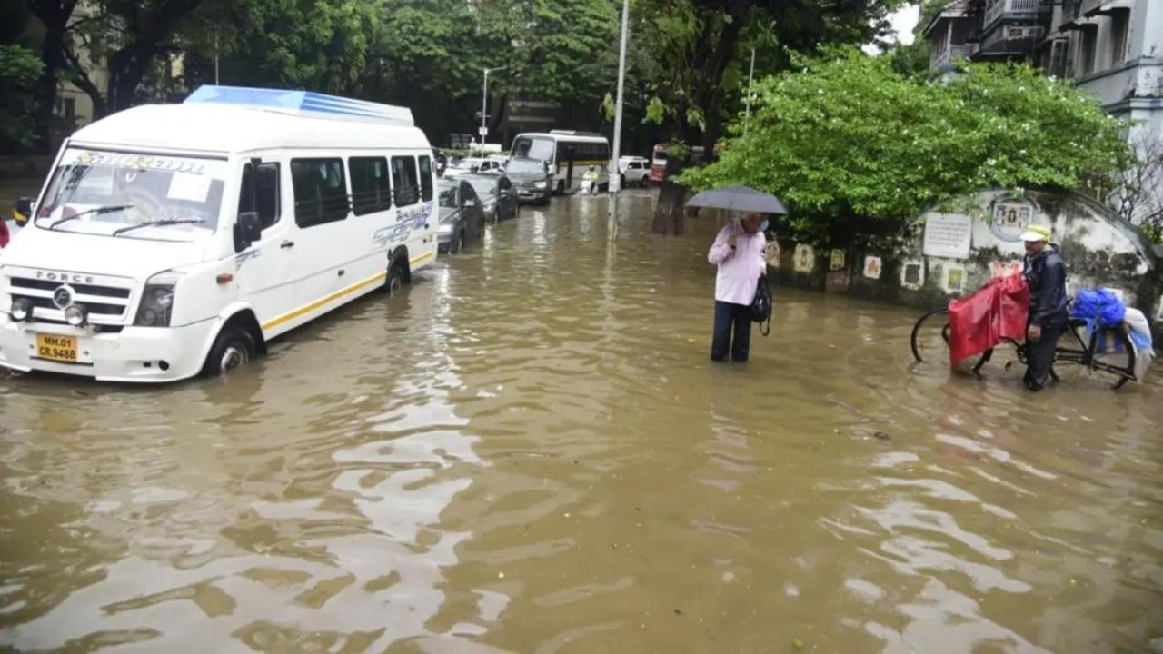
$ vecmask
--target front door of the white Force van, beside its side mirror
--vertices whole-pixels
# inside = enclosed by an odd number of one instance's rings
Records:
[[[281,172],[279,162],[263,162],[257,166],[248,162],[242,166],[238,190],[238,213],[257,213],[263,235],[236,255],[235,282],[238,298],[254,307],[267,337],[278,333],[278,325],[273,324],[278,317],[294,306],[292,253],[287,247],[292,220],[291,212],[283,211],[291,206],[291,190],[281,184]]]

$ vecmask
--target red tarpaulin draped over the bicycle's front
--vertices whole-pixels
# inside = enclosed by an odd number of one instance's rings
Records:
[[[1026,339],[1029,287],[1021,275],[994,277],[949,303],[949,363],[956,367],[1006,339]]]

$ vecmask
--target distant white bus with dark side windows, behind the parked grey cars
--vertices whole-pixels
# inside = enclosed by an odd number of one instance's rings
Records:
[[[591,165],[597,169],[600,189],[605,190],[609,180],[609,141],[601,134],[564,129],[518,134],[512,156],[549,163],[558,194],[579,190]]]

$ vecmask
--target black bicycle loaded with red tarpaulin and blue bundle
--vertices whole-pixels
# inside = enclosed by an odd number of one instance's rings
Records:
[[[1054,348],[1054,364],[1050,376],[1055,381],[1090,382],[1118,389],[1135,378],[1135,348],[1130,344],[1126,325],[1119,327],[1087,328],[1086,320],[1072,318],[1057,336]],[[909,344],[918,362],[949,361],[949,310],[933,310],[913,325]],[[1018,361],[1026,363],[1026,343],[1006,339],[1014,347]],[[986,350],[973,362],[972,371],[979,375],[982,367],[993,357]],[[1006,362],[1006,370],[1013,361]]]

